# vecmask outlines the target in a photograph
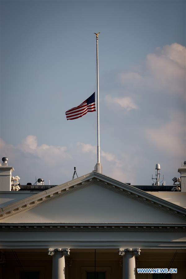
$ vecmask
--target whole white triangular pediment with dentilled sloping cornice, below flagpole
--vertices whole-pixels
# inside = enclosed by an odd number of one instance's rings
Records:
[[[3,223],[183,223],[168,201],[92,172],[3,208]]]

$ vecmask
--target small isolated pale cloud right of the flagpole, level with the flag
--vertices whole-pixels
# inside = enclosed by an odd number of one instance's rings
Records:
[[[134,103],[131,97],[116,98],[111,97],[110,95],[106,95],[105,100],[108,103],[118,104],[120,107],[125,108],[126,111],[130,111],[131,109],[138,109],[138,106]]]

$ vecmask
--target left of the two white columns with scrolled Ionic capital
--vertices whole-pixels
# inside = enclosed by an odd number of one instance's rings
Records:
[[[48,249],[48,255],[52,259],[52,279],[65,279],[65,260],[64,256],[70,255],[70,249]]]

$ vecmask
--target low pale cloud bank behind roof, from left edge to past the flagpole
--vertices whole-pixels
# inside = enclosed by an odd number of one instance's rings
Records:
[[[42,177],[45,184],[50,179],[52,184],[60,184],[71,179],[73,166],[77,166],[78,176],[90,172],[96,163],[96,146],[77,143],[69,148],[37,144],[37,138],[29,135],[21,144],[13,146],[1,139],[2,157],[8,157],[8,163],[21,177],[20,183],[35,182],[35,176]],[[81,161],[79,158],[81,157]],[[129,181],[129,173],[123,168],[123,163],[116,155],[101,151],[104,174],[121,181]]]

